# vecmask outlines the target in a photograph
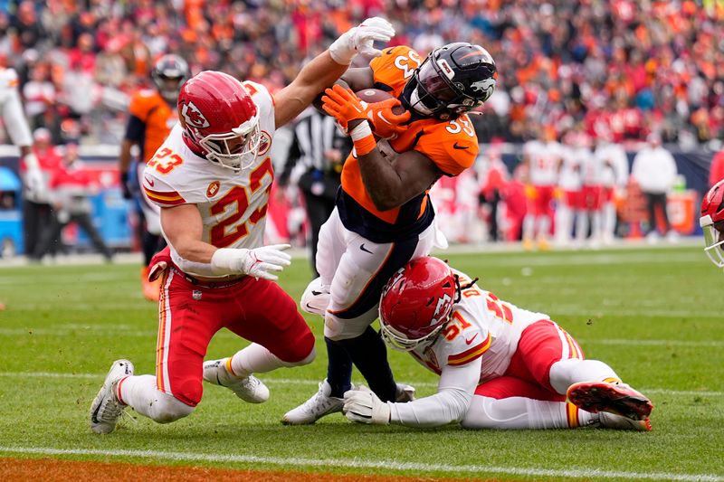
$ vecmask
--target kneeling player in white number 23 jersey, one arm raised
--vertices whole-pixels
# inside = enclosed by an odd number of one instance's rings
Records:
[[[154,421],[186,417],[203,392],[202,378],[261,403],[269,390],[252,373],[309,364],[314,336],[274,274],[290,264],[288,245],[262,246],[276,128],[297,117],[348,69],[357,52],[395,34],[382,18],[343,33],[276,97],[262,85],[218,71],[186,81],[179,124],[147,163],[142,187],[161,207],[166,250],[149,276],[163,276],[156,376],[134,376],[133,364],[111,365],[90,407],[90,428],[114,430],[130,405]],[[212,336],[226,327],[252,345],[204,364]]]

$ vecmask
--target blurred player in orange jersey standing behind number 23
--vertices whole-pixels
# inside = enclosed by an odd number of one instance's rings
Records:
[[[138,90],[130,100],[129,123],[126,134],[120,143],[119,170],[123,197],[135,197],[143,214],[145,225],[142,226],[141,245],[143,248],[143,268],[141,269],[141,288],[143,296],[149,301],[158,301],[158,281],[148,281],[148,263],[158,250],[164,247],[161,237],[159,208],[151,203],[142,190],[135,192],[129,185],[131,167],[131,147],[140,149],[138,175],[143,172],[148,160],[171,132],[178,121],[176,115],[176,99],[181,85],[188,79],[188,64],[178,55],[164,55],[154,65],[151,79],[156,90]],[[142,161],[142,162],[141,162]]]

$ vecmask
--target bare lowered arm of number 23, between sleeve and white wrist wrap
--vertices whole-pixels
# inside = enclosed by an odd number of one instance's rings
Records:
[[[216,248],[201,241],[204,226],[195,204],[161,208],[161,227],[169,244],[184,260],[211,262]]]

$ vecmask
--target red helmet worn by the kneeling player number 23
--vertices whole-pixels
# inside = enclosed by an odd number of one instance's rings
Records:
[[[209,161],[234,171],[253,164],[262,140],[259,114],[239,80],[203,71],[181,87],[178,119],[184,139]]]

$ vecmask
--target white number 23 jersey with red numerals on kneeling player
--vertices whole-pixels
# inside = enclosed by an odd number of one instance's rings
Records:
[[[252,82],[246,82],[252,84]],[[160,207],[195,204],[204,225],[202,241],[216,248],[262,246],[269,191],[274,179],[269,151],[275,130],[271,94],[253,83],[252,99],[259,113],[262,143],[252,165],[241,172],[197,156],[182,137],[180,124],[171,129],[156,156],[148,161],[143,189]],[[182,259],[169,242],[171,259],[184,272],[219,278],[211,264]]]

